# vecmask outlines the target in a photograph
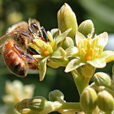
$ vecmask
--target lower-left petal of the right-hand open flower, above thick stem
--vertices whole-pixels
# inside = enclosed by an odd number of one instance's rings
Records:
[[[72,59],[66,66],[65,72],[71,72],[82,65],[85,65],[85,63],[82,63],[79,58]]]

